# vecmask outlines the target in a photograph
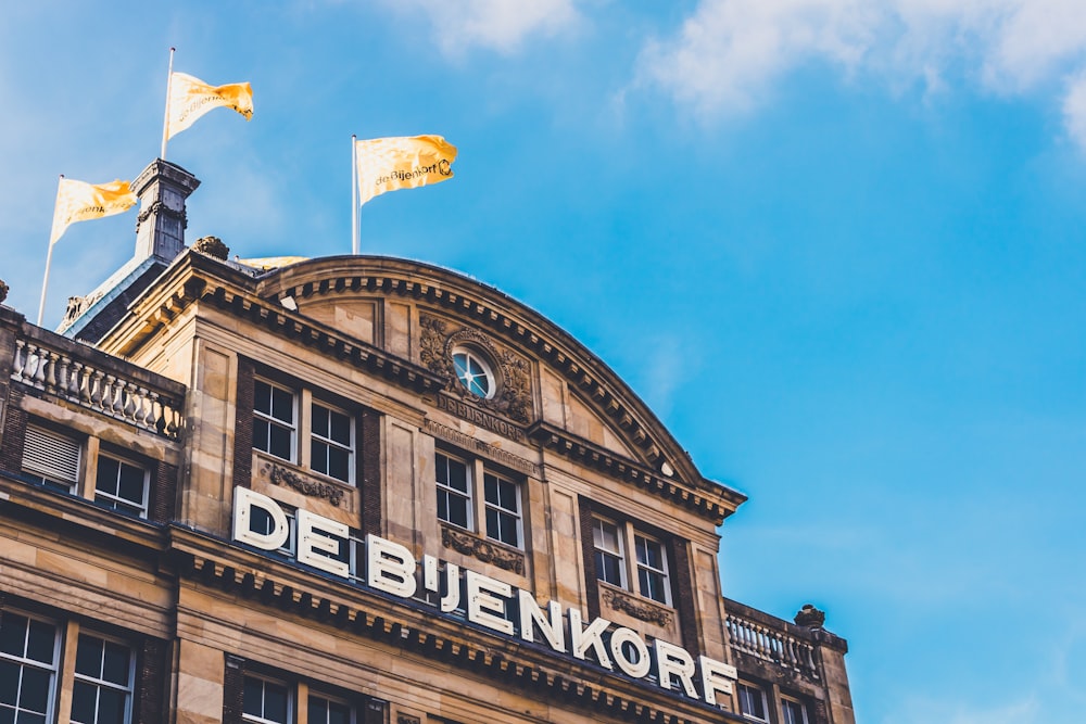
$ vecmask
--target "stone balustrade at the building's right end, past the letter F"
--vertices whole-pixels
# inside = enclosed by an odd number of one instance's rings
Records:
[[[809,632],[785,621],[725,600],[728,609],[728,635],[732,649],[762,661],[790,669],[805,678],[818,681],[819,666],[815,655],[815,644],[806,640]],[[804,634],[807,634],[805,636]]]

